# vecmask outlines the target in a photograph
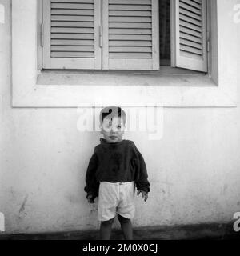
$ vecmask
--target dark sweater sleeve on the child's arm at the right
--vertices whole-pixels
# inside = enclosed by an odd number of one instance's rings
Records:
[[[137,190],[143,190],[148,193],[150,192],[150,182],[147,179],[148,174],[146,170],[146,164],[144,162],[142,154],[138,151],[138,148],[135,146],[135,144],[134,151],[137,156],[137,158],[134,158],[134,166],[136,168],[135,184]]]

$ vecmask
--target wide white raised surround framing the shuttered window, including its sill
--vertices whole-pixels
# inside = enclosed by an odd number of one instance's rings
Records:
[[[226,14],[226,6],[218,2],[218,15]],[[224,30],[221,19],[218,34],[218,86],[211,78],[191,74],[57,74],[40,73],[37,62],[38,0],[12,0],[12,55],[14,107],[78,107],[78,106],[166,106],[209,107],[236,106],[237,74],[234,56],[237,39],[229,45],[225,38],[238,34],[238,27]],[[223,27],[223,29],[222,29]],[[27,33],[23,33],[27,31]],[[225,45],[227,43],[227,45]],[[230,50],[232,51],[230,53]],[[219,60],[219,61],[218,61]],[[227,61],[226,61],[227,60]],[[214,79],[215,81],[215,79]]]

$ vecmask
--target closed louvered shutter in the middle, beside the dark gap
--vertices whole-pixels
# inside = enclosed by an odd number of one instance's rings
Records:
[[[158,0],[103,0],[105,70],[158,70]]]

